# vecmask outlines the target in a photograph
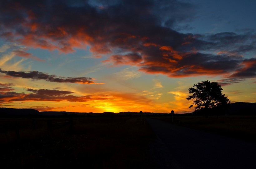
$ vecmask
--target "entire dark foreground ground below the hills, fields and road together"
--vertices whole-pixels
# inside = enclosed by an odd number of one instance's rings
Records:
[[[254,117],[154,118],[0,119],[0,168],[256,168]]]

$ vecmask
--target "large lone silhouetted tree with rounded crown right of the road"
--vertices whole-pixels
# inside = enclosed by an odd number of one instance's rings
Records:
[[[207,115],[207,109],[214,108],[216,106],[225,107],[230,103],[227,96],[222,94],[223,89],[217,82],[202,81],[195,84],[193,87],[189,88],[189,94],[187,100],[193,100],[192,104],[189,106],[196,105],[196,110],[205,110]]]

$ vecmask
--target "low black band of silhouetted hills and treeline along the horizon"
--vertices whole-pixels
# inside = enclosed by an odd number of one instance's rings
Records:
[[[143,112],[143,116],[169,116],[170,113]],[[204,110],[195,110],[192,113],[174,115],[204,115]],[[229,108],[223,109],[221,106],[208,109],[208,115],[256,115],[256,103],[236,102],[229,104]],[[117,117],[117,116],[140,116],[139,112],[104,112],[104,113],[77,113],[66,111],[42,111],[34,109],[15,109],[0,107],[0,118],[7,117]]]

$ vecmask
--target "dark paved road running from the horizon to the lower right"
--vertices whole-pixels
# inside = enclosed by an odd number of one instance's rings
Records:
[[[256,169],[256,144],[147,118],[181,169]]]

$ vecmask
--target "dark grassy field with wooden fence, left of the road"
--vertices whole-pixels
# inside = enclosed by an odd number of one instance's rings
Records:
[[[68,118],[0,119],[1,168],[154,168],[155,134],[140,117],[74,118],[69,126],[47,129]],[[36,128],[33,124],[36,120]],[[19,139],[15,125],[19,125]]]

